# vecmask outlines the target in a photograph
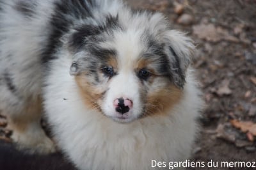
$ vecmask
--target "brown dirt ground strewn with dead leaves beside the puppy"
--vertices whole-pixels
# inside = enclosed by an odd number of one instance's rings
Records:
[[[190,161],[212,160],[218,167],[189,169],[252,169],[220,164],[256,160],[256,1],[127,1],[163,12],[173,29],[185,31],[197,45],[194,66],[206,105]]]

